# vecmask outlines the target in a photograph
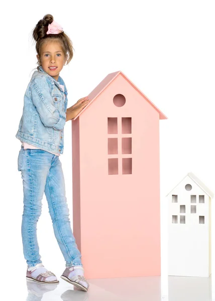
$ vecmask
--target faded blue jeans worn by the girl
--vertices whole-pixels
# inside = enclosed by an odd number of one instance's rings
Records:
[[[66,261],[66,267],[82,266],[81,254],[70,226],[64,176],[59,157],[42,149],[24,149],[22,145],[18,156],[18,171],[21,171],[23,179],[22,241],[28,268],[42,262],[36,231],[44,192],[54,234]]]

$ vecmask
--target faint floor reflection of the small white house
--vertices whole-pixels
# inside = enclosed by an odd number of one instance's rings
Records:
[[[168,277],[168,301],[211,301],[211,277]]]

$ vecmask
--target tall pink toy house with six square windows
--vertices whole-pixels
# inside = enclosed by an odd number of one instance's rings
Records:
[[[73,233],[85,277],[160,275],[159,120],[122,71],[72,120]]]

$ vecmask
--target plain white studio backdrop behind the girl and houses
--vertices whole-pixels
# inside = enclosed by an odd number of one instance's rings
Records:
[[[48,13],[62,25],[75,49],[69,66],[60,73],[68,89],[68,107],[89,94],[107,74],[121,70],[168,117],[160,120],[162,273],[166,275],[165,196],[190,171],[215,192],[215,3],[207,0],[4,2],[0,13],[1,257],[5,264],[19,264],[24,274],[23,186],[17,170],[21,142],[15,135],[24,93],[37,67],[32,30]],[[72,225],[71,121],[66,122],[64,132],[65,148],[60,160]],[[63,270],[64,258],[54,237],[45,195],[42,202],[38,222],[40,254],[48,269]],[[214,237],[213,226],[212,254]],[[165,280],[162,287],[166,294]]]

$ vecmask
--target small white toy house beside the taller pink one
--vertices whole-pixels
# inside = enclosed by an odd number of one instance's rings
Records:
[[[167,197],[168,274],[208,277],[213,193],[193,173],[188,173]]]

